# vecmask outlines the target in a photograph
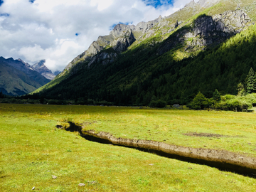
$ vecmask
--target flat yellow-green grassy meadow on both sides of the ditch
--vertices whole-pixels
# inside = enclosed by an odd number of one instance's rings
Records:
[[[255,156],[255,115],[0,104],[0,191],[256,191],[255,178],[89,142],[55,128],[72,121],[116,137]],[[191,132],[225,137],[184,135]]]

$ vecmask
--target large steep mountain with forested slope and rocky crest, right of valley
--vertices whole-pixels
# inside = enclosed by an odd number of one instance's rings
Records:
[[[256,69],[255,8],[252,0],[191,1],[164,18],[118,24],[33,93],[116,105],[186,103],[215,89],[236,94]]]

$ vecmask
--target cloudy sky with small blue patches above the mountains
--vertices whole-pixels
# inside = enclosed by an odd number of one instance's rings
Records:
[[[0,0],[0,56],[63,70],[117,23],[151,21],[191,0]]]

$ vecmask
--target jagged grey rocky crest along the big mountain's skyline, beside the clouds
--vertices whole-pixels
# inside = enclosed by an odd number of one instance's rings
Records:
[[[80,60],[87,61],[88,66],[92,65],[92,63],[95,63],[97,60],[102,60],[102,63],[104,64],[114,62],[114,58],[117,57],[117,53],[127,50],[127,48],[137,40],[134,36],[134,32],[139,33],[138,38],[141,38],[145,33],[153,28],[156,23],[159,23],[163,19],[164,18],[162,16],[159,16],[159,18],[156,18],[153,21],[142,21],[138,23],[137,26],[130,26],[122,23],[117,24],[114,26],[113,30],[110,31],[110,35],[99,36],[97,41],[92,42],[85,52],[81,53],[68,63],[65,70],[70,70],[70,68],[73,68],[73,66]],[[101,51],[105,50],[106,47],[112,47],[114,52],[110,51],[110,53],[101,53]],[[100,55],[97,55],[98,53],[100,53]]]

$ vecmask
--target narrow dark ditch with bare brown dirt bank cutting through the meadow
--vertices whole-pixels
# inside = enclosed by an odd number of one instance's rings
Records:
[[[205,164],[223,171],[232,171],[238,174],[256,178],[256,159],[250,156],[244,156],[242,154],[236,154],[225,150],[218,151],[215,149],[196,149],[186,146],[166,144],[164,142],[117,138],[107,132],[82,130],[82,127],[75,126],[73,122],[69,123],[70,127],[66,129],[67,131],[80,132],[82,137],[93,142],[126,146],[159,154],[172,159],[188,161],[196,164]]]

